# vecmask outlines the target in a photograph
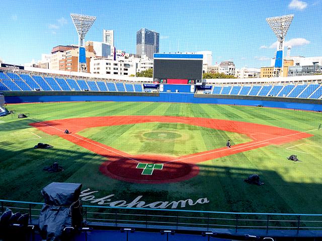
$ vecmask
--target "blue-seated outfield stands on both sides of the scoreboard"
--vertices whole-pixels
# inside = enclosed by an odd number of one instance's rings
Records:
[[[159,91],[158,85],[156,88],[148,85],[152,84],[152,78],[119,76],[118,79],[115,79],[115,77],[102,78],[102,76],[88,73],[70,75],[70,72],[66,74],[65,71],[31,69],[32,71],[12,72],[1,68],[0,91]],[[144,85],[144,83],[148,84]],[[321,83],[322,75],[286,78],[206,79],[202,86],[195,89],[195,93],[321,99]]]

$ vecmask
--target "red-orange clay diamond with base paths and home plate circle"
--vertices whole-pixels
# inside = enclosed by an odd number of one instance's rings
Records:
[[[182,157],[170,157],[160,155],[130,155],[76,134],[79,131],[92,127],[151,122],[182,123],[227,132],[236,132],[247,135],[253,141],[234,145],[229,149],[223,147]],[[32,123],[30,125],[45,133],[59,136],[106,157],[108,160],[100,166],[100,171],[104,175],[126,182],[146,184],[188,180],[198,175],[199,167],[195,164],[199,162],[250,151],[268,145],[281,145],[312,136],[303,132],[254,123],[178,116],[97,116],[57,119],[54,121]],[[71,134],[64,134],[65,129],[68,129]],[[152,175],[142,175],[142,169],[136,168],[139,162],[162,163],[164,167],[162,170],[153,170]]]

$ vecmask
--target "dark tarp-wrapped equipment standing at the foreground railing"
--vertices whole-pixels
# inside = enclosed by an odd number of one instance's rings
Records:
[[[81,225],[81,188],[78,183],[53,182],[42,189],[45,204],[39,215],[39,227],[46,240],[61,240],[65,227]]]

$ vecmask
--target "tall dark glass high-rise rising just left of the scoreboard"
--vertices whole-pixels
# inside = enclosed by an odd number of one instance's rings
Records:
[[[153,54],[159,52],[159,33],[148,29],[136,32],[136,54],[153,59]]]

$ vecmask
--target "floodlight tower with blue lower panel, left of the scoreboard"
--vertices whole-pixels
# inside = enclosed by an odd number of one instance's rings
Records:
[[[86,72],[86,51],[85,51],[85,35],[92,27],[96,17],[85,16],[80,14],[70,14],[72,22],[78,33],[78,72]]]

